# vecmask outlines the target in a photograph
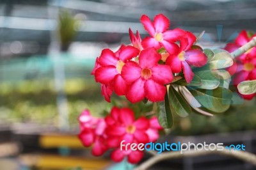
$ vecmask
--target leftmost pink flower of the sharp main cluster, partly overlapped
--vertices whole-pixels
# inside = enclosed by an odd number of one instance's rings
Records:
[[[138,56],[139,52],[138,49],[129,45],[123,45],[116,53],[110,49],[102,50],[94,73],[95,81],[105,85],[102,86],[102,91],[108,102],[111,91],[115,91],[117,95],[125,95],[128,85],[120,73],[125,63]]]

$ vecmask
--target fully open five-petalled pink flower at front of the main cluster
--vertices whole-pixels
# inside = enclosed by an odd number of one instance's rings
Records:
[[[158,64],[160,59],[161,55],[151,47],[141,51],[139,63],[129,61],[125,64],[121,75],[131,84],[126,93],[130,102],[140,102],[145,97],[151,102],[164,100],[164,84],[172,82],[173,75],[170,66]]]

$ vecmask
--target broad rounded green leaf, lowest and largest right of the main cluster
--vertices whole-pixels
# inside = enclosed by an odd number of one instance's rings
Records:
[[[225,88],[218,87],[212,90],[188,88],[196,100],[212,112],[225,112],[232,102],[232,92]]]

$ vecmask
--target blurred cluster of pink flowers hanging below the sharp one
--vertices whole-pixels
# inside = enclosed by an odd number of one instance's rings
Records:
[[[141,116],[136,120],[131,109],[118,107],[113,107],[106,118],[95,118],[85,110],[79,116],[79,123],[79,139],[84,146],[92,146],[93,155],[100,156],[112,150],[112,160],[120,162],[127,157],[132,164],[141,160],[143,152],[129,148],[120,150],[121,141],[137,144],[155,142],[159,138],[159,130],[163,129],[156,117],[147,119]]]

